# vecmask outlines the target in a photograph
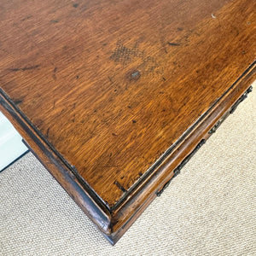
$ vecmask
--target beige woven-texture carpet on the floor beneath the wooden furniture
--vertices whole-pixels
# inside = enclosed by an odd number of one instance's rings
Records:
[[[1,255],[256,255],[256,83],[112,247],[32,154],[0,173]]]

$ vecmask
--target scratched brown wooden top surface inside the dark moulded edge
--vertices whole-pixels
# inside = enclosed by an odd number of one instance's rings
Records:
[[[0,88],[114,207],[255,60],[255,1],[0,3]]]

